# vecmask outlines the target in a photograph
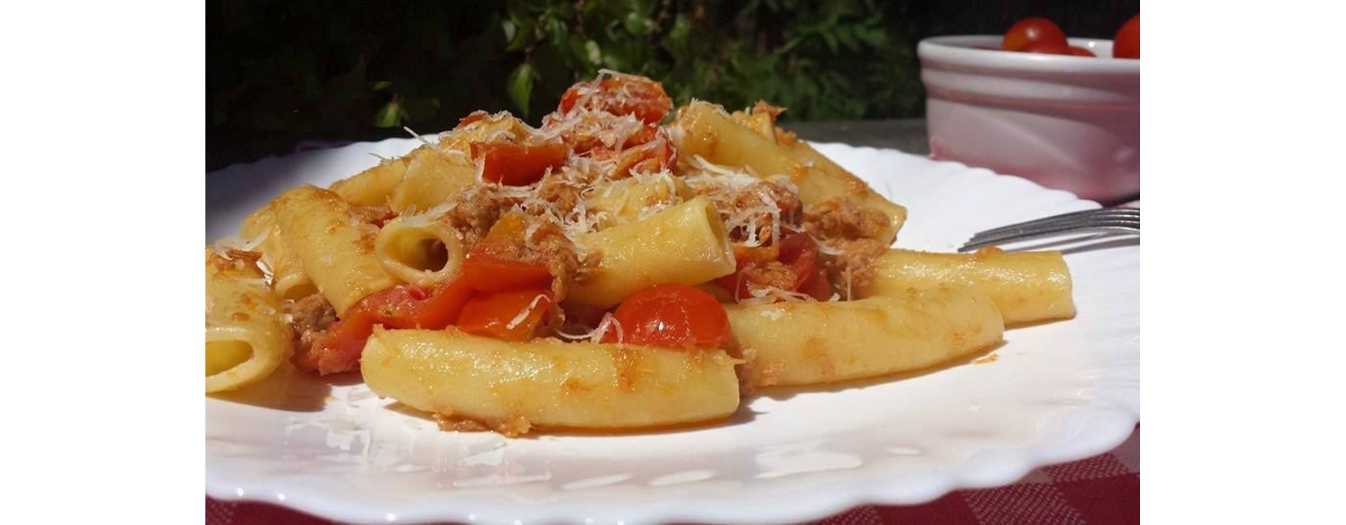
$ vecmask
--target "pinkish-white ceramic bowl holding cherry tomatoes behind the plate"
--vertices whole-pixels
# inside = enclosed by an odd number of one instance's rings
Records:
[[[1090,200],[1140,192],[1140,60],[1000,51],[997,36],[921,40],[930,154]]]

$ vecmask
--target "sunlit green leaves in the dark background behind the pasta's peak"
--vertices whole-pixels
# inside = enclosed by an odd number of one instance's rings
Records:
[[[544,101],[610,68],[662,81],[678,103],[765,99],[797,120],[853,120],[919,111],[905,8],[872,0],[517,0],[501,26],[524,64],[559,58],[564,66],[538,82]]]

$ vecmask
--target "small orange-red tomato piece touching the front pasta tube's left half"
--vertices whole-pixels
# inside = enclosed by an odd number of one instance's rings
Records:
[[[458,326],[470,334],[505,341],[528,341],[552,307],[546,289],[476,295],[463,306]]]

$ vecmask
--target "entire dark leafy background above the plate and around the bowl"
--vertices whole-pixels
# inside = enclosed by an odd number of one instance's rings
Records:
[[[1031,15],[1106,38],[1137,11],[1063,0],[995,11],[907,0],[210,1],[206,169],[302,140],[439,132],[478,109],[537,124],[600,68],[658,79],[678,103],[766,99],[787,107],[786,122],[919,117],[919,38],[999,34]],[[1093,26],[1109,30],[1078,32]]]

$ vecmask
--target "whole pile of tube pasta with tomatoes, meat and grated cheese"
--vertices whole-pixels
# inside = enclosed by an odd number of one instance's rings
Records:
[[[723,420],[756,388],[966,359],[1074,316],[1059,252],[891,248],[906,208],[759,102],[604,71],[476,111],[206,248],[206,392],[359,372],[446,430]]]

